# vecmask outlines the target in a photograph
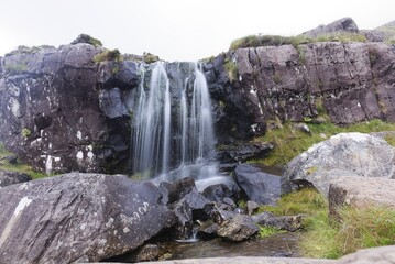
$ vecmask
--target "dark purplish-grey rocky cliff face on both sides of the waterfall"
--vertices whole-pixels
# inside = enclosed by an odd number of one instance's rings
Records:
[[[102,47],[75,42],[22,47],[1,57],[0,136],[7,147],[47,173],[127,172],[131,109],[140,68],[149,65],[105,55]],[[395,121],[394,63],[395,50],[384,43],[221,54],[202,63],[219,143],[263,134],[271,120],[314,120],[325,111],[340,124]],[[166,66],[171,86],[182,85],[177,74],[187,65]],[[145,75],[146,81],[150,70]]]

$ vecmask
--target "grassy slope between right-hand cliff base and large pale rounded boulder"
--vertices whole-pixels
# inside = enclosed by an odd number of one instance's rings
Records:
[[[339,127],[331,122],[308,123],[308,125],[311,131],[310,134],[295,129],[292,123],[283,124],[282,129],[268,130],[264,136],[257,138],[254,141],[272,142],[275,144],[275,147],[267,157],[254,160],[253,162],[263,163],[267,166],[283,166],[314,144],[323,141],[322,134],[329,138],[342,132],[370,133],[395,130],[394,123],[376,119],[347,127]],[[395,144],[394,138],[388,136],[386,140],[389,144]]]

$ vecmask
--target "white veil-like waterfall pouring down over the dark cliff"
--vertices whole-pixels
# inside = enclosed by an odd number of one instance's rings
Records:
[[[216,139],[207,81],[197,64],[189,65],[186,74],[177,70],[169,78],[166,65],[156,63],[149,87],[142,75],[133,108],[132,170],[167,180],[207,178],[217,172],[211,161]],[[183,85],[172,86],[171,79]]]

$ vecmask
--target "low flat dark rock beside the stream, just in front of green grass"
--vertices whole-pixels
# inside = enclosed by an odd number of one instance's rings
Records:
[[[271,212],[262,212],[260,215],[253,216],[252,220],[255,223],[274,227],[281,230],[296,231],[301,228],[303,216],[284,216],[276,217]]]

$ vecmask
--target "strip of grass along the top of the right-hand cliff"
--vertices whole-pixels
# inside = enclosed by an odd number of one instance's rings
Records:
[[[257,47],[257,46],[281,46],[293,45],[297,47],[300,44],[314,43],[314,42],[366,42],[366,37],[356,33],[333,33],[321,35],[318,37],[308,37],[305,35],[297,36],[279,36],[279,35],[249,35],[238,40],[234,40],[230,44],[230,50],[237,50],[241,47]]]

